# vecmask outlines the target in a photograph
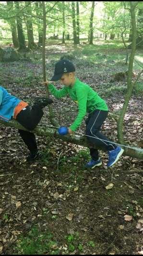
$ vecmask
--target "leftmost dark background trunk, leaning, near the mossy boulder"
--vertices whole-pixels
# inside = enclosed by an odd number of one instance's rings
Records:
[[[10,8],[10,11],[13,12],[13,1],[7,1],[7,5]],[[17,29],[15,18],[10,19],[11,29],[12,29],[12,42],[14,48],[19,47],[18,38],[17,38]]]

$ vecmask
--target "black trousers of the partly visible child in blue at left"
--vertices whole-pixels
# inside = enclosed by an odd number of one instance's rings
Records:
[[[27,106],[25,110],[20,111],[16,120],[22,124],[24,128],[32,131],[36,128],[36,125],[41,120],[43,114],[43,110],[39,106],[35,105],[32,109]],[[30,152],[36,152],[37,144],[35,134],[20,129],[18,131]]]

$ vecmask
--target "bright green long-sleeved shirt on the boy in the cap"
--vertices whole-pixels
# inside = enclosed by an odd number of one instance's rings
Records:
[[[86,112],[91,113],[95,109],[107,111],[107,104],[105,100],[86,83],[79,79],[75,80],[73,86],[64,86],[61,90],[57,90],[53,84],[49,84],[49,91],[56,98],[61,98],[70,95],[71,99],[78,104],[78,114],[72,125],[69,127],[73,132],[80,126]]]

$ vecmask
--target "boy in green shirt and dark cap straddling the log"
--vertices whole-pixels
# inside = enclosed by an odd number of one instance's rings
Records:
[[[81,82],[75,77],[75,67],[71,61],[61,59],[55,65],[54,76],[50,81],[58,81],[64,85],[61,90],[57,90],[49,81],[44,82],[48,86],[51,94],[56,98],[61,98],[70,95],[72,100],[78,104],[78,114],[72,125],[68,128],[69,134],[74,134],[76,129],[80,126],[83,118],[88,112],[86,122],[87,139],[93,144],[95,143],[99,148],[107,150],[108,163],[107,167],[112,166],[119,160],[124,149],[116,146],[116,143],[111,143],[109,139],[99,132],[101,125],[107,118],[108,108],[106,102],[98,96],[98,94],[86,83]],[[86,168],[94,168],[102,164],[98,150],[89,148],[91,161],[86,163]]]

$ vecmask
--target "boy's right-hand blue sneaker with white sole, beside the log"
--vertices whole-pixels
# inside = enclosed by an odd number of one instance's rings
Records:
[[[117,147],[114,150],[108,151],[109,160],[107,162],[107,167],[112,166],[115,162],[119,160],[119,157],[124,152],[124,149]]]

